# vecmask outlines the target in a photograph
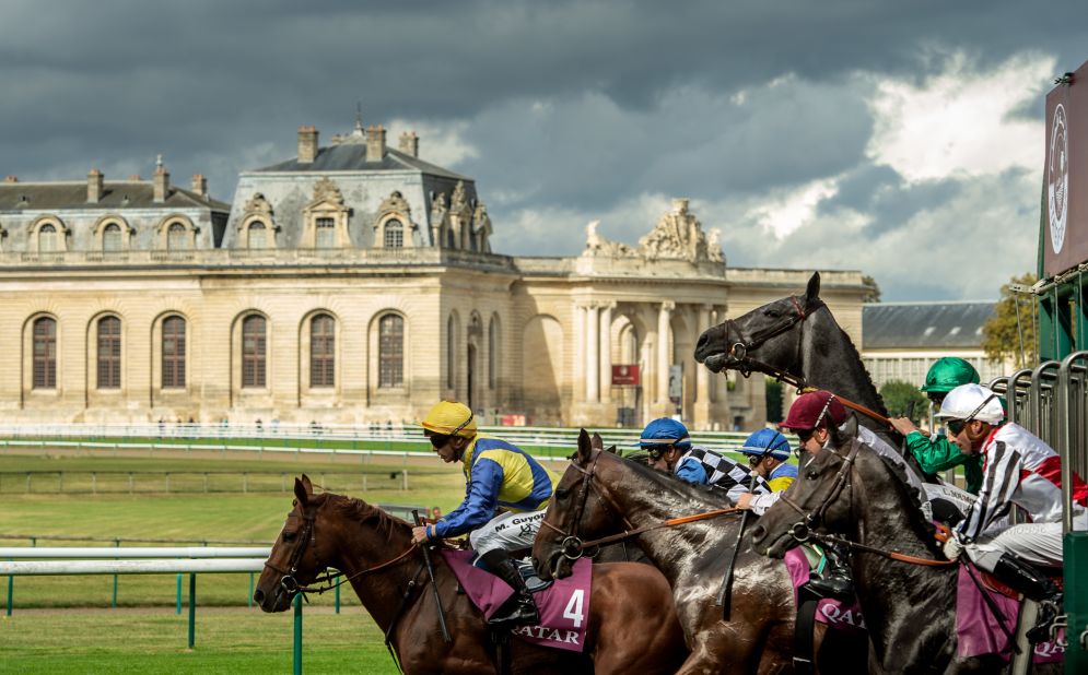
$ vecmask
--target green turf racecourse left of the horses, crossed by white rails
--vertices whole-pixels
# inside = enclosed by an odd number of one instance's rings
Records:
[[[84,541],[39,540],[39,546],[110,545],[91,538],[203,540],[270,544],[291,509],[292,495],[266,492],[203,494],[155,492],[153,485],[134,494],[90,494],[75,473],[90,471],[234,471],[306,472],[327,476],[327,486],[352,497],[379,504],[455,507],[464,496],[459,466],[433,457],[411,460],[410,489],[399,482],[379,481],[405,467],[359,458],[265,458],[219,453],[30,452],[0,455],[2,471],[72,472],[45,493],[20,492],[20,484],[0,489],[0,533],[86,537]],[[363,492],[362,473],[374,476]],[[241,486],[241,482],[231,483]],[[276,485],[279,485],[277,479]],[[102,484],[100,483],[100,487]],[[176,486],[175,486],[176,487]],[[11,492],[14,490],[14,492]],[[0,538],[0,545],[26,546],[26,538]],[[143,544],[147,545],[147,544]],[[8,579],[0,578],[0,597],[8,600]],[[183,580],[183,602],[188,581]],[[292,613],[265,614],[248,606],[250,578],[246,573],[197,577],[196,647],[187,649],[188,611],[176,613],[175,575],[121,576],[117,607],[113,578],[19,577],[14,580],[11,617],[0,604],[0,673],[290,673]],[[303,612],[303,670],[307,673],[397,673],[373,620],[350,591],[341,595],[341,614],[332,594],[314,597]],[[437,627],[435,627],[437,630]],[[437,635],[437,633],[436,633]]]

